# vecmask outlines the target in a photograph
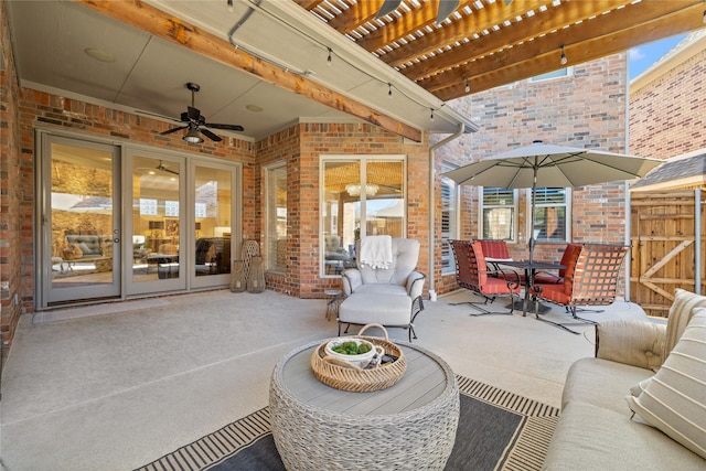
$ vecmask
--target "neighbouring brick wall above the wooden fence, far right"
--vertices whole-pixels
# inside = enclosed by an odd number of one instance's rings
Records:
[[[706,49],[630,94],[630,152],[666,159],[706,148]]]

